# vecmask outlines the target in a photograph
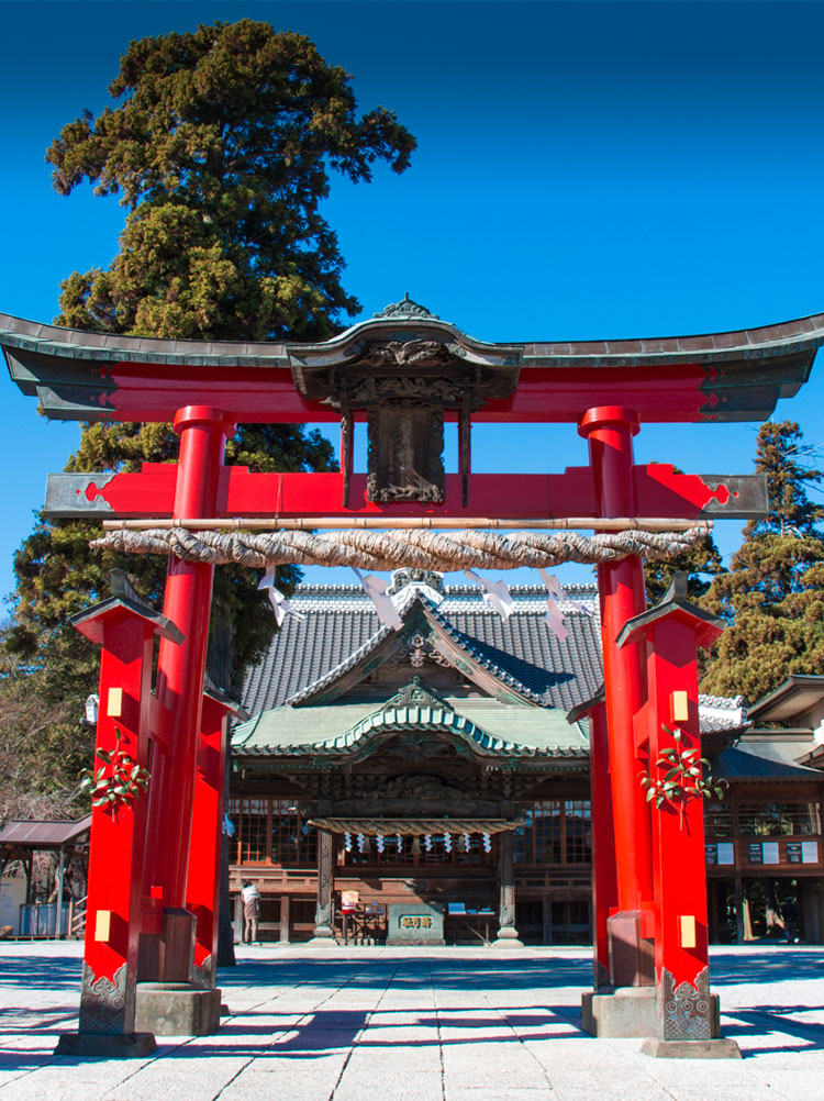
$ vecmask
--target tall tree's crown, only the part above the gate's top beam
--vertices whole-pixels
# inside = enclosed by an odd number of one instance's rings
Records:
[[[106,271],[63,284],[59,324],[139,336],[332,335],[358,302],[320,214],[329,171],[403,172],[415,140],[385,108],[361,117],[347,73],[300,34],[244,19],[132,42],[122,102],[63,128],[46,160],[64,195],[89,181],[129,215]]]

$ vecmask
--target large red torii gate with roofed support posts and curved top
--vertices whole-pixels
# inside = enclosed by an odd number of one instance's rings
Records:
[[[0,315],[11,375],[46,415],[172,422],[180,436],[177,466],[52,476],[46,511],[201,527],[250,515],[268,517],[272,526],[337,520],[386,527],[404,521],[469,526],[484,517],[529,527],[530,521],[589,517],[596,528],[608,517],[661,526],[757,516],[767,505],[763,479],[638,467],[633,436],[645,422],[763,419],[779,396],[791,396],[807,379],[823,341],[824,315],[816,315],[704,337],[484,344],[408,297],[319,345],[129,338]],[[367,476],[352,471],[358,419],[369,422]],[[459,424],[455,476],[443,475],[444,419]],[[340,473],[223,466],[238,422],[305,421],[341,423]],[[590,465],[560,475],[473,475],[471,423],[484,421],[573,423],[587,438]],[[80,1032],[64,1037],[62,1050],[125,1055],[151,1046],[152,1032],[217,1027],[210,946],[229,707],[204,697],[212,573],[210,565],[171,558],[163,617],[121,585],[78,618],[77,626],[103,646],[98,749],[131,749],[139,770],[151,740],[152,776],[147,800],[131,791],[129,799],[114,797],[94,811],[95,884],[112,863],[125,862],[128,874],[121,869],[111,876],[99,897],[90,890]],[[684,748],[696,742],[695,646],[717,624],[707,624],[682,593],[647,613],[635,555],[600,564],[598,589],[605,687],[603,704],[591,706],[598,913],[593,1028],[655,1037],[655,1054],[729,1054],[730,1045],[708,1038],[699,808],[690,808],[686,828],[673,830],[672,809],[651,810],[638,783],[639,771],[655,774],[664,721],[680,724]],[[193,817],[205,824],[205,835],[193,833]],[[680,890],[661,872],[664,850],[670,864],[684,869]],[[685,898],[693,900],[689,913]],[[136,980],[143,985],[135,1017]],[[631,990],[640,996],[624,996]],[[680,999],[678,1012],[666,1009],[672,998]],[[620,1010],[609,1010],[618,1001]]]

